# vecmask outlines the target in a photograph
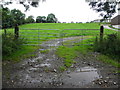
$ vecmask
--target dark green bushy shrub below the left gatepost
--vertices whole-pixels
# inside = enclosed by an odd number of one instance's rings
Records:
[[[16,50],[21,48],[21,45],[25,43],[24,39],[15,39],[14,35],[11,33],[9,34],[2,34],[2,55],[9,56]]]

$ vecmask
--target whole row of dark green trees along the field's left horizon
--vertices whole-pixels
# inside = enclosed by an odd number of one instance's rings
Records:
[[[0,11],[2,12],[3,29],[14,27],[16,24],[22,25],[26,23],[56,23],[58,21],[55,15],[52,13],[48,14],[47,17],[37,16],[37,18],[34,19],[33,16],[28,16],[25,18],[25,14],[17,9],[10,10],[6,7],[2,8]]]

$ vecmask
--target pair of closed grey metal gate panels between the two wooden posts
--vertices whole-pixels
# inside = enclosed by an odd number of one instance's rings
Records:
[[[26,39],[23,45],[40,46],[45,41],[46,46],[73,45],[91,36],[99,35],[100,29],[20,29],[19,36]],[[47,42],[51,42],[47,43]],[[67,43],[64,43],[67,41]],[[80,44],[77,44],[80,45]],[[83,44],[82,44],[83,45]]]

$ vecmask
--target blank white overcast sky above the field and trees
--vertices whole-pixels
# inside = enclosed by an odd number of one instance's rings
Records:
[[[85,0],[47,0],[46,2],[40,2],[37,8],[30,7],[27,12],[24,12],[23,5],[16,4],[16,2],[8,5],[8,7],[10,9],[19,9],[26,16],[33,15],[35,18],[53,13],[60,22],[89,22],[100,19],[99,13],[90,9],[88,4]]]

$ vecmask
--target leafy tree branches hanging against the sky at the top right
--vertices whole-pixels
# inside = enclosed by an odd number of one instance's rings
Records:
[[[89,5],[91,8],[97,12],[101,12],[100,16],[103,17],[103,20],[110,19],[116,13],[116,6],[120,2],[90,2]],[[102,20],[102,21],[103,21]]]

